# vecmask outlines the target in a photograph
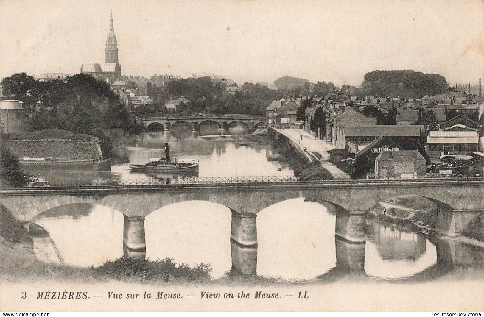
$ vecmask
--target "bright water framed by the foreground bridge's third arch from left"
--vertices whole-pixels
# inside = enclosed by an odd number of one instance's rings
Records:
[[[311,280],[336,265],[335,215],[304,198],[257,214],[257,274]]]

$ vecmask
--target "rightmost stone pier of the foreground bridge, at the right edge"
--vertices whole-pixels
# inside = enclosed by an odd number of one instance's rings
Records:
[[[456,237],[462,234],[469,223],[479,215],[483,210],[452,210],[439,208],[437,212],[436,231],[439,234]]]

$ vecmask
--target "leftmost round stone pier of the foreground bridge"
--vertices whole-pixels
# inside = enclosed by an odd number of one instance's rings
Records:
[[[129,257],[143,258],[146,256],[145,218],[124,215],[123,250]]]

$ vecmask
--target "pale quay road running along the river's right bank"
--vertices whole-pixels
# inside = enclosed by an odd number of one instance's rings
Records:
[[[321,163],[321,166],[326,168],[333,176],[334,175],[348,175],[347,173],[343,172],[338,167],[334,166],[332,163],[328,162],[330,159],[330,155],[328,151],[333,150],[334,146],[326,141],[315,139],[314,136],[310,135],[306,131],[302,129],[277,129],[273,128],[275,131],[279,132],[290,138],[296,145],[299,145],[301,149],[306,148],[306,151],[311,152],[318,152],[321,154],[322,158],[318,159]],[[302,136],[302,140],[301,140]],[[313,158],[314,160],[314,158]]]

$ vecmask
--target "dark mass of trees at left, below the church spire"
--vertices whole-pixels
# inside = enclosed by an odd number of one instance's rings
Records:
[[[66,130],[96,136],[105,158],[115,157],[112,140],[103,130],[129,131],[135,122],[110,86],[91,75],[76,74],[66,81],[37,81],[25,73],[2,79],[2,93],[24,102],[28,129]]]

